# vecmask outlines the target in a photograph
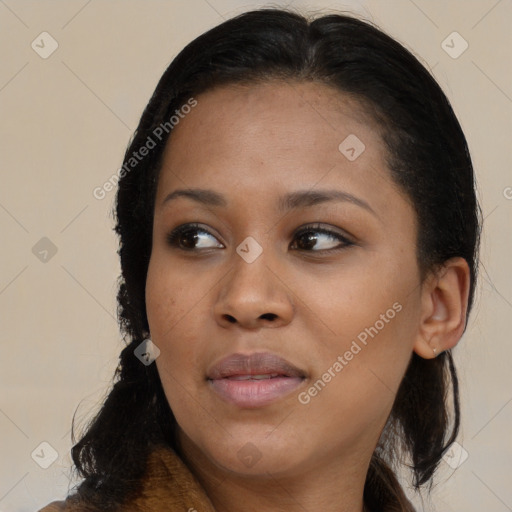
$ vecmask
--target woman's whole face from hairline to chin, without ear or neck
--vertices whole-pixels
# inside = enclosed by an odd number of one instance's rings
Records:
[[[413,207],[346,95],[196,99],[164,155],[146,286],[183,446],[238,474],[364,465],[418,335]]]

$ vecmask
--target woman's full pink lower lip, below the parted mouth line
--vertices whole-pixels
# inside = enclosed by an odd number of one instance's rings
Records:
[[[304,379],[274,377],[261,380],[210,380],[212,389],[224,400],[239,407],[256,408],[270,404],[297,389]]]

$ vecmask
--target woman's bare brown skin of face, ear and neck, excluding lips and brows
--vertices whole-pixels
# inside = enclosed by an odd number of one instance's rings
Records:
[[[371,455],[412,352],[432,358],[433,347],[451,348],[463,333],[467,263],[454,258],[420,282],[413,206],[354,99],[318,83],[269,82],[223,86],[197,100],[164,154],[146,285],[182,456],[219,512],[241,503],[248,512],[361,512]],[[338,149],[349,134],[365,145],[354,161]],[[227,206],[164,203],[185,188],[212,189]],[[278,210],[281,195],[311,189],[350,193],[373,213],[349,201]],[[172,247],[167,235],[192,222],[211,233],[198,233],[201,248]],[[315,223],[352,245],[314,226],[316,245],[300,244],[298,228]],[[252,263],[236,252],[248,236],[263,250]],[[395,303],[400,312],[300,403],[299,393]],[[205,378],[235,352],[273,352],[306,378],[265,407],[237,407]],[[240,450],[260,458],[248,467]]]

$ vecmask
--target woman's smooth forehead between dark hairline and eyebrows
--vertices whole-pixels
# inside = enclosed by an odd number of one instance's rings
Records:
[[[387,195],[399,193],[376,124],[333,87],[229,85],[196,100],[168,141],[157,203],[175,188],[198,186],[228,195],[341,186],[383,207]]]

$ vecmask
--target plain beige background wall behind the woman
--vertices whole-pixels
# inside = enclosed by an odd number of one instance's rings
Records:
[[[464,414],[458,442],[469,457],[456,470],[442,462],[433,499],[415,502],[439,512],[510,511],[512,2],[274,2],[286,4],[373,20],[421,56],[460,118],[485,217],[476,306],[456,349]],[[176,53],[223,19],[263,5],[0,0],[1,512],[34,511],[67,494],[75,482],[68,480],[73,413],[80,405],[77,417],[85,419],[95,409],[122,346],[114,193],[97,200],[93,189],[119,168]],[[58,43],[47,59],[31,48],[44,31]],[[457,59],[441,46],[453,31],[469,44]],[[42,237],[57,249],[46,262],[33,253]],[[48,469],[35,462],[52,453],[41,442],[58,453]]]

